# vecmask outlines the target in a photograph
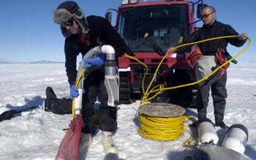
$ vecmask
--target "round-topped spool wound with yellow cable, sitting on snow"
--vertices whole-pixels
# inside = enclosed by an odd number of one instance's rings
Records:
[[[183,135],[184,130],[191,133],[191,130],[185,128],[184,121],[195,119],[192,116],[184,116],[185,108],[170,103],[147,103],[138,108],[140,127],[138,133],[151,140],[175,140]],[[193,135],[192,135],[193,137]],[[184,142],[187,145],[190,140]]]

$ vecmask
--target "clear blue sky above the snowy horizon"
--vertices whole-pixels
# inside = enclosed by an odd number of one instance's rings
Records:
[[[148,0],[149,1],[149,0]],[[194,0],[197,1],[197,0]],[[7,60],[56,60],[64,62],[64,37],[53,22],[53,10],[63,0],[8,0],[0,5],[0,58]],[[121,0],[76,1],[88,15],[104,17],[109,8],[117,9]],[[237,60],[256,61],[254,42],[255,0],[204,0],[217,10],[217,20],[231,25],[238,33],[246,33],[252,45]],[[116,15],[115,15],[116,16]],[[113,18],[115,22],[116,17]],[[198,23],[197,26],[202,25]],[[248,42],[246,43],[248,44]],[[246,47],[246,44],[244,47]],[[236,55],[244,47],[229,45],[227,51]]]

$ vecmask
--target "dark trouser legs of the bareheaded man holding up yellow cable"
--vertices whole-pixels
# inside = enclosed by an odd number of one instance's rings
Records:
[[[227,97],[227,72],[220,79],[208,81],[203,86],[197,85],[197,113],[198,119],[206,118],[206,109],[208,106],[208,97],[211,89],[211,96],[214,101],[214,117],[215,123],[219,123],[224,119],[225,106]]]

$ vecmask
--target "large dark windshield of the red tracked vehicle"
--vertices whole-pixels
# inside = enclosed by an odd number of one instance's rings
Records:
[[[118,33],[132,52],[155,52],[154,41],[163,51],[178,45],[178,39],[189,35],[187,4],[165,4],[145,7],[121,8],[118,12]]]

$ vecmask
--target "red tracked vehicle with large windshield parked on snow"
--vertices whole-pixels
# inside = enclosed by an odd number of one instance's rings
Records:
[[[134,54],[133,57],[148,65],[149,71],[144,82],[145,90],[167,49],[178,45],[182,39],[186,39],[195,31],[197,22],[194,19],[195,4],[197,4],[198,17],[200,10],[206,6],[202,0],[195,3],[185,0],[121,1],[121,6],[116,10],[116,30],[127,44],[129,52]],[[106,14],[108,20],[111,20],[110,13]],[[148,34],[146,38],[145,34]],[[192,49],[184,53],[167,55],[151,87],[157,84],[172,87],[192,82],[192,66],[187,60],[191,52]],[[140,100],[146,68],[137,61],[123,56],[118,58],[118,71],[121,103],[129,104],[133,100]],[[195,91],[194,87],[165,90],[156,99],[193,108]]]

